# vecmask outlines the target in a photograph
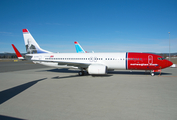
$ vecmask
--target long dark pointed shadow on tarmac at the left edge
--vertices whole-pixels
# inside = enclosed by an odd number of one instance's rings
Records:
[[[24,90],[30,88],[31,86],[35,85],[37,82],[45,80],[47,78],[39,79],[39,80],[34,80],[4,91],[0,92],[0,105],[7,100],[13,98],[14,96],[18,95],[19,93],[23,92]]]

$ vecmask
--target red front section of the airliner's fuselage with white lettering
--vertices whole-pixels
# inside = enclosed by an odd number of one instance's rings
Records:
[[[128,53],[129,70],[158,70],[169,67],[168,60],[159,60],[159,55],[151,53]]]

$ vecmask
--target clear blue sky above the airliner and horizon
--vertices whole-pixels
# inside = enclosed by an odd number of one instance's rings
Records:
[[[75,52],[177,52],[177,0],[1,0],[0,52],[25,53],[22,29],[41,48]]]

